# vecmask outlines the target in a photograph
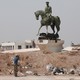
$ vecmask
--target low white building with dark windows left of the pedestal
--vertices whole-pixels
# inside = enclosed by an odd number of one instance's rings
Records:
[[[0,48],[3,51],[6,50],[16,50],[16,49],[28,49],[28,48],[35,48],[36,44],[33,40],[25,40],[25,41],[18,41],[18,42],[3,42],[0,45]]]

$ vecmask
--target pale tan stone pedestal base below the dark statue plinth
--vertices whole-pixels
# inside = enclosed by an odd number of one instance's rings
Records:
[[[38,40],[37,45],[41,50],[47,50],[51,52],[61,52],[63,49],[64,40]]]

